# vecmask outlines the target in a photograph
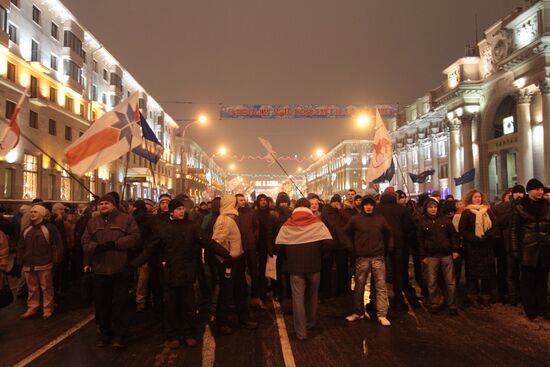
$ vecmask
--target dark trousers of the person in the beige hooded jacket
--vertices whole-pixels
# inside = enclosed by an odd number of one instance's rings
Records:
[[[231,276],[225,276],[225,266],[218,265],[218,275],[220,282],[220,294],[216,306],[216,324],[218,326],[227,325],[229,322],[229,306],[231,300],[237,307],[239,322],[244,323],[250,318],[248,311],[247,289],[244,256],[236,259],[231,266]]]

